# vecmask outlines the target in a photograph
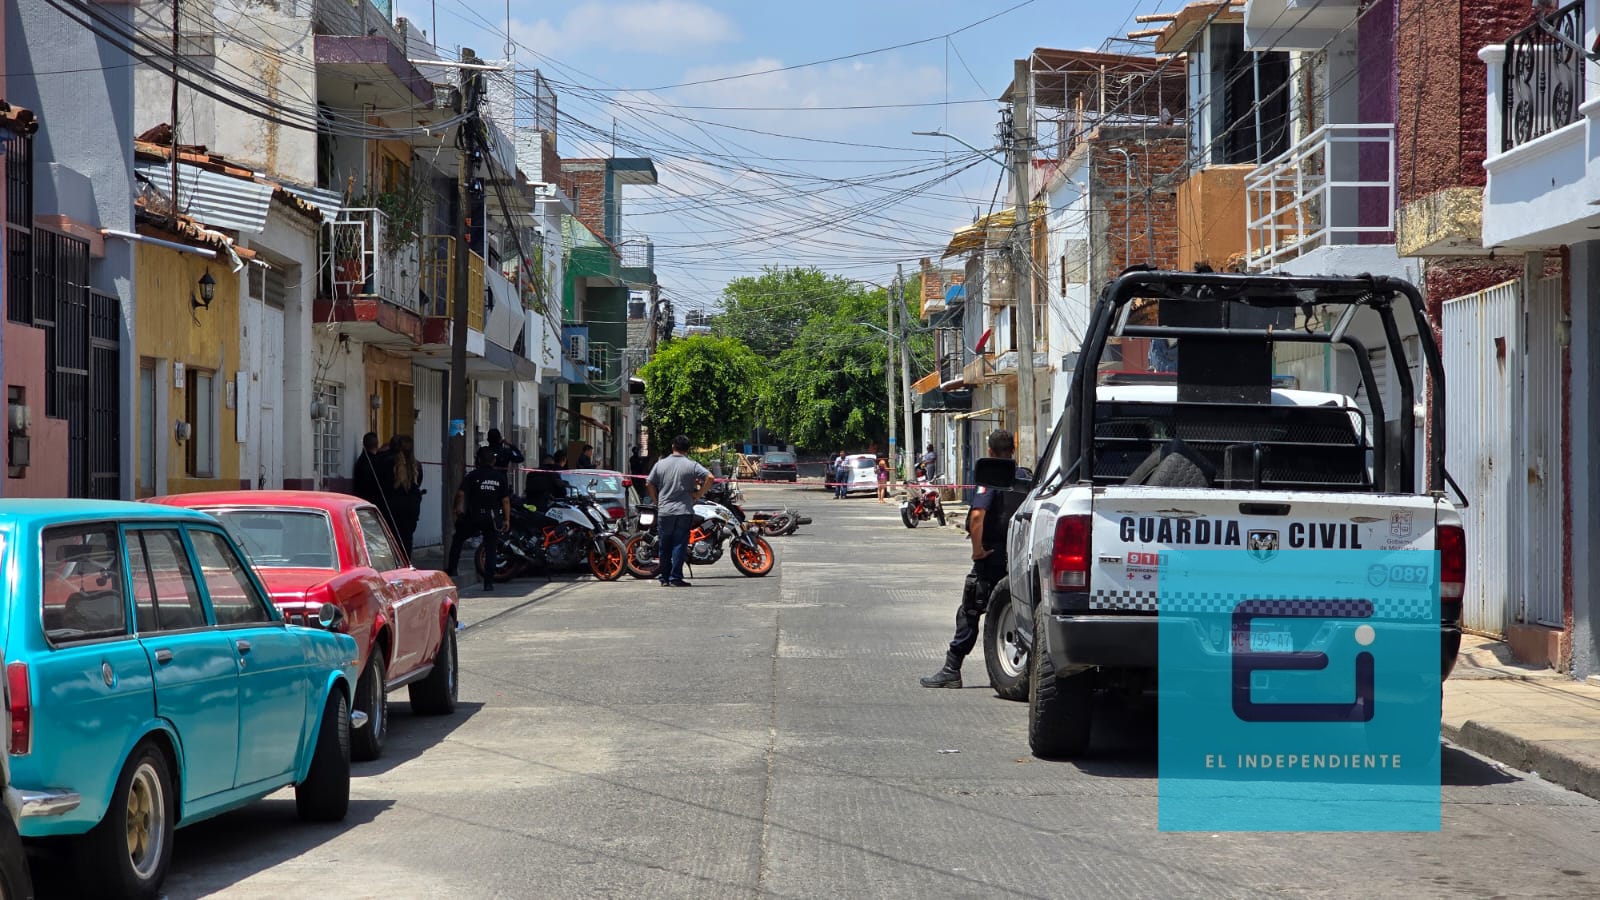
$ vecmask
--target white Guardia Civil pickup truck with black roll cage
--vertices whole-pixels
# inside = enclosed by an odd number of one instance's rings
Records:
[[[1387,346],[1397,391],[1362,336]],[[1278,360],[1306,359],[1304,344],[1326,348],[1328,372],[1338,356],[1347,394],[1275,386]],[[1432,384],[1426,466],[1408,346]],[[1157,687],[1157,586],[1173,551],[1438,551],[1424,577],[1438,580],[1448,676],[1466,540],[1445,496],[1443,384],[1422,299],[1397,279],[1130,271],[1107,285],[1032,479],[1010,460],[978,463],[979,484],[1027,492],[984,652],[995,692],[1029,703],[1032,751],[1085,753],[1096,693]]]

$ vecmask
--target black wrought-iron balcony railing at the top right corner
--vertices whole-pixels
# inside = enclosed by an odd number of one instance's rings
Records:
[[[1573,0],[1506,40],[1501,151],[1578,122],[1584,102],[1584,0]]]

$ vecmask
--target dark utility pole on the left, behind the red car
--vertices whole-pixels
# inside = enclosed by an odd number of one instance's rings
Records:
[[[461,61],[477,62],[477,54],[467,48],[461,50]],[[456,247],[454,266],[451,272],[453,287],[450,291],[450,429],[448,453],[445,455],[445,498],[440,511],[445,517],[445,543],[454,536],[456,527],[456,490],[467,474],[467,253],[470,253],[472,235],[472,178],[477,173],[478,149],[482,144],[482,128],[478,123],[478,99],[483,74],[477,69],[462,67],[461,77],[461,109],[467,119],[458,127],[458,162],[456,162]]]

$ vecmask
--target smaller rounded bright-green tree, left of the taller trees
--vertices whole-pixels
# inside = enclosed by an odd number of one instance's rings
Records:
[[[651,432],[670,440],[686,434],[696,447],[749,432],[766,370],[734,338],[696,335],[661,344],[638,370]]]

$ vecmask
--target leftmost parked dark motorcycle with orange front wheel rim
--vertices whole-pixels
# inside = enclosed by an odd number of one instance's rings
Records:
[[[546,572],[587,562],[602,581],[622,577],[627,544],[614,533],[605,509],[586,495],[552,498],[544,509],[512,504],[510,524],[499,535],[494,581],[509,581],[531,569]],[[488,569],[488,549],[474,556],[478,575]]]

